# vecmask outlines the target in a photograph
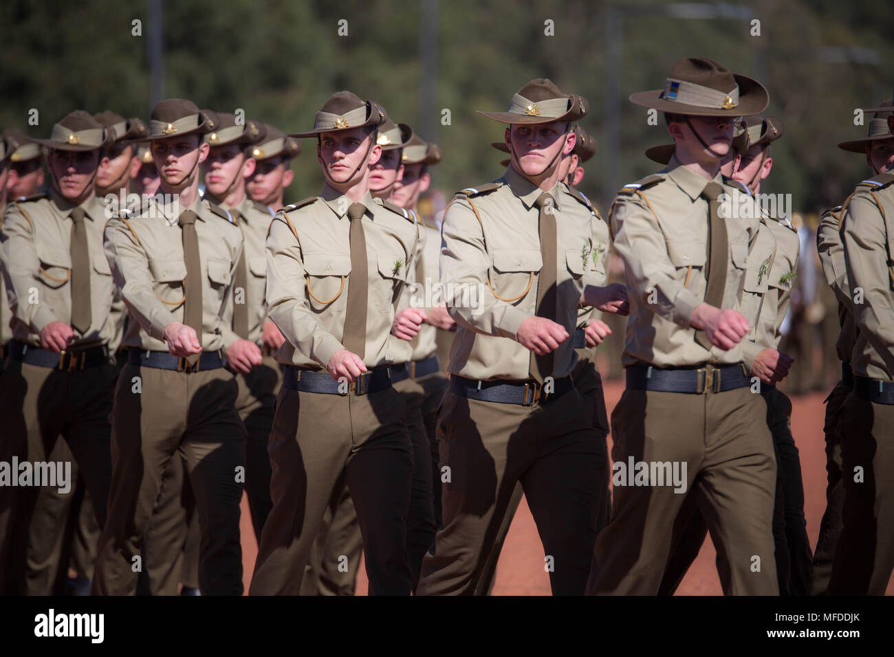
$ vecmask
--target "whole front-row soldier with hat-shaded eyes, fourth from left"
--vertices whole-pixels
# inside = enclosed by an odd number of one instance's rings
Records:
[[[443,526],[419,594],[476,592],[519,481],[552,560],[553,594],[584,591],[605,448],[571,380],[569,337],[580,305],[627,305],[620,286],[598,287],[595,210],[559,180],[586,110],[582,97],[537,79],[508,112],[481,113],[508,124],[511,166],[461,191],[444,215],[441,282],[459,329],[438,425]]]

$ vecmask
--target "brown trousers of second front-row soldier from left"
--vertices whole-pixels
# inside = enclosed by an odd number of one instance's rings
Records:
[[[111,508],[97,549],[94,594],[136,593],[144,536],[172,458],[186,459],[196,496],[199,588],[203,594],[242,593],[237,468],[244,462],[245,429],[234,408],[237,391],[223,368],[185,373],[124,366],[111,418]]]

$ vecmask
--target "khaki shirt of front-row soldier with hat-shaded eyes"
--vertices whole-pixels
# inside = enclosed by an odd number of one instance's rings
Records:
[[[543,258],[535,201],[544,190],[511,167],[495,184],[499,187],[485,187],[482,193],[471,188],[468,194],[460,192],[444,214],[441,282],[448,312],[458,324],[448,369],[482,381],[527,380],[531,352],[516,335],[521,323],[536,315]],[[570,336],[578,325],[584,288],[604,281],[596,271],[602,259],[594,265],[592,256],[604,233],[595,211],[564,184],[557,183],[549,192],[558,251],[555,320],[569,333],[553,354],[553,376],[561,377],[571,373],[577,360]]]

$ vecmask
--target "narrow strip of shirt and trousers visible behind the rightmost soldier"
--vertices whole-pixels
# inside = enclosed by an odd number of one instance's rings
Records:
[[[811,595],[826,593],[831,576],[832,560],[835,557],[835,546],[838,544],[843,526],[841,511],[844,507],[844,482],[841,471],[841,432],[839,427],[841,409],[844,407],[844,401],[848,398],[848,393],[854,387],[853,375],[850,370],[850,355],[856,342],[854,304],[850,296],[844,244],[841,242],[840,233],[843,216],[842,206],[827,210],[823,213],[816,229],[816,250],[822,263],[822,272],[839,302],[838,314],[841,332],[835,343],[835,350],[841,361],[841,379],[825,399],[826,417],[822,429],[826,441],[826,510],[822,514],[820,535],[816,539],[814,564],[810,574],[809,593]]]

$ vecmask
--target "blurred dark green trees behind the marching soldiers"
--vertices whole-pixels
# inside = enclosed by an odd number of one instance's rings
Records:
[[[166,2],[164,96],[189,97],[221,111],[244,108],[249,117],[298,131],[312,124],[333,91],[349,88],[381,102],[394,119],[442,147],[434,185],[449,198],[502,173],[501,156],[489,143],[502,139],[503,126],[475,110],[505,109],[527,80],[549,77],[589,99],[592,110],[582,124],[600,146],[606,137],[603,109],[609,100],[620,106],[620,149],[597,150],[581,186],[604,210],[611,194],[603,181],[624,183],[654,172],[643,150],[668,139],[663,122],[648,125],[645,109],[627,97],[662,87],[678,57],[704,55],[758,77],[770,90],[768,113],[783,119],[786,135],[774,145],[769,190],[790,192],[797,210],[839,203],[867,168],[864,158],[835,145],[864,136],[867,128],[854,124],[856,107],[876,105],[892,92],[884,66],[894,55],[894,3],[721,3],[761,21],[760,36],[752,36],[749,21],[741,19],[672,18],[674,4],[679,10],[679,3],[646,0],[439,0],[436,38],[428,44],[437,61],[434,98],[423,116],[422,2]],[[606,89],[610,9],[621,16],[616,98],[608,98]],[[338,35],[342,19],[348,36]],[[142,21],[142,36],[131,34],[134,20]],[[544,34],[547,20],[554,36]],[[153,27],[147,2],[6,0],[0,26],[0,127],[46,137],[54,122],[79,107],[148,118]],[[36,126],[27,124],[32,108],[39,113]],[[441,122],[444,108],[451,111],[450,125]],[[305,140],[302,147],[287,200],[320,189],[315,144]]]

